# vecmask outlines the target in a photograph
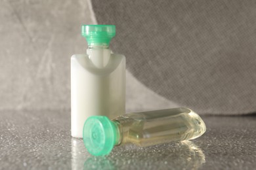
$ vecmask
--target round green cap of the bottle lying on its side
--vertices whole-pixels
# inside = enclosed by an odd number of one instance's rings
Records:
[[[83,143],[94,156],[109,154],[118,136],[117,126],[106,116],[91,116],[83,126]]]

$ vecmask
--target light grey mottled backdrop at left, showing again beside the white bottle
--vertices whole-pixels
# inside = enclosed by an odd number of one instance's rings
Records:
[[[0,0],[0,110],[70,110],[70,57],[86,51],[90,4]],[[127,112],[177,107],[129,72],[126,103]]]

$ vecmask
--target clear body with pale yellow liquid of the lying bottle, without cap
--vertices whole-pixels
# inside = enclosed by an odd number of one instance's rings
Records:
[[[206,130],[203,120],[186,108],[125,114],[113,119],[119,129],[119,143],[151,146],[200,137]]]

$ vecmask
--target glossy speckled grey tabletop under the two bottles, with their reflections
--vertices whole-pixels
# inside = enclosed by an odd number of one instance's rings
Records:
[[[0,169],[254,169],[256,116],[202,116],[193,141],[114,148],[95,158],[70,136],[68,111],[0,112]]]

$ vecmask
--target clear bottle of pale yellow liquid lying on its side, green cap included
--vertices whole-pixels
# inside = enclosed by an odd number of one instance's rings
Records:
[[[116,145],[133,143],[151,146],[200,137],[205,124],[194,111],[186,108],[135,112],[109,120],[91,116],[83,126],[83,141],[95,155],[109,154]]]

